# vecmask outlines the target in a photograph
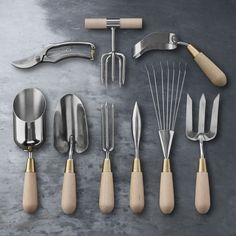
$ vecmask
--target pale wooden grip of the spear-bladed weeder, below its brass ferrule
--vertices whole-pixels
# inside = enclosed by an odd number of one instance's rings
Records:
[[[144,209],[143,173],[141,171],[131,173],[129,205],[133,213],[141,213]]]

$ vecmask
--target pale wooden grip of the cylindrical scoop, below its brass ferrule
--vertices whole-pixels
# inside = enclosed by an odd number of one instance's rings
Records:
[[[37,177],[35,172],[25,172],[23,189],[23,209],[34,213],[38,208]]]

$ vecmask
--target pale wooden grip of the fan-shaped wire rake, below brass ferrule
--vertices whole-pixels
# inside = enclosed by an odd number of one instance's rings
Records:
[[[159,204],[163,214],[170,214],[174,210],[175,201],[172,172],[161,172]]]

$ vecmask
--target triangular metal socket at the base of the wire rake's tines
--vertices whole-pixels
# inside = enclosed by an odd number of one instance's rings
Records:
[[[163,151],[163,155],[165,158],[169,158],[170,149],[174,137],[173,130],[159,130],[159,137],[161,140],[161,147]]]

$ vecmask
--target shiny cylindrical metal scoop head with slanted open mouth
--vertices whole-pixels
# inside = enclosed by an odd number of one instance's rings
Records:
[[[36,88],[18,93],[13,102],[13,131],[15,143],[32,152],[45,140],[46,100]]]

